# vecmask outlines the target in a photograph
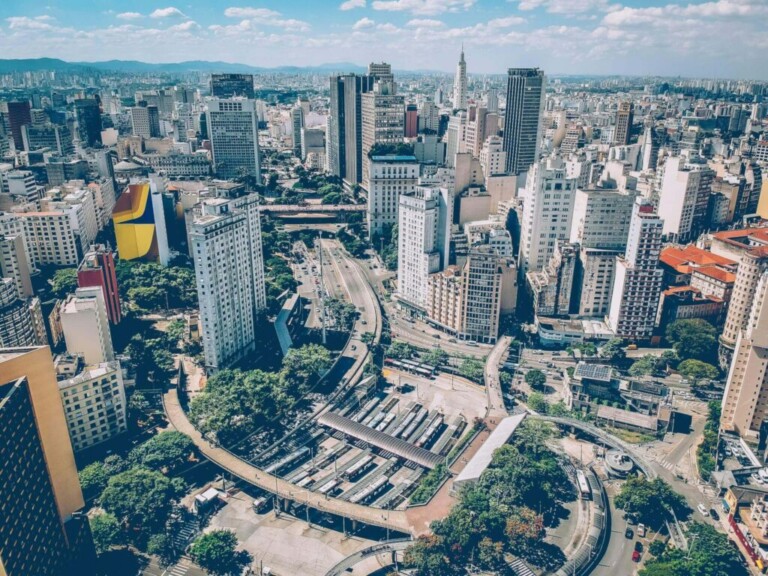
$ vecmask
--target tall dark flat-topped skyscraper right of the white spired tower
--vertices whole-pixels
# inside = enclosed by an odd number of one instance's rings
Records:
[[[544,72],[538,68],[510,68],[504,112],[504,151],[507,173],[528,171],[536,162],[541,141]]]

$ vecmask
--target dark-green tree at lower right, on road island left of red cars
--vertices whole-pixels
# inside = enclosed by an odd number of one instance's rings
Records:
[[[653,528],[659,528],[664,523],[669,510],[681,520],[691,512],[685,499],[664,480],[648,480],[645,476],[634,476],[624,482],[616,497],[616,507]]]

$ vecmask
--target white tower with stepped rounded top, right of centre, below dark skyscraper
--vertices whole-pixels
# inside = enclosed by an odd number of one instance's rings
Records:
[[[576,180],[567,177],[561,157],[543,158],[531,167],[520,226],[519,268],[523,274],[544,268],[554,254],[555,242],[568,240],[575,194]]]

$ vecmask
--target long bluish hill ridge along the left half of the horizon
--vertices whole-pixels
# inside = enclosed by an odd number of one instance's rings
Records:
[[[363,73],[365,66],[348,62],[320,64],[318,66],[278,66],[275,68],[249,66],[233,62],[207,62],[205,60],[190,60],[188,62],[171,62],[152,64],[137,60],[107,60],[105,62],[66,62],[58,58],[25,58],[16,60],[0,59],[0,74],[14,72],[38,72],[50,70],[55,72],[83,72],[86,70],[101,70],[105,72],[124,72],[133,74],[166,73],[184,74],[188,72],[223,72],[251,74],[316,74],[330,72]]]

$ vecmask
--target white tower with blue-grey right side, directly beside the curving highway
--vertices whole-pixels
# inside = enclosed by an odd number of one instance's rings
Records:
[[[402,194],[397,239],[397,291],[406,305],[424,310],[429,275],[448,264],[453,198],[446,188],[417,186]]]

